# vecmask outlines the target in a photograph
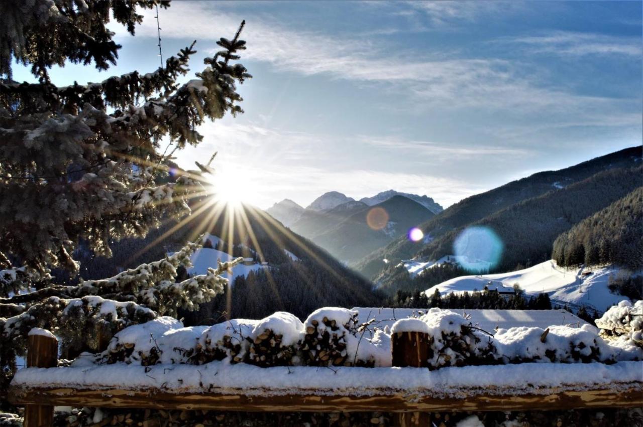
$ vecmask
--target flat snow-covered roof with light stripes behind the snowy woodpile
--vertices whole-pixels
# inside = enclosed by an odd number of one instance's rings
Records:
[[[417,308],[378,308],[378,307],[355,307],[359,312],[358,321],[364,323],[371,318],[376,319],[376,326],[389,328],[395,320],[402,318],[417,317],[421,309]],[[427,309],[422,310],[426,313]],[[543,329],[554,325],[568,325],[581,327],[587,324],[583,319],[573,315],[566,310],[462,310],[453,309],[460,314],[466,314],[471,318],[469,321],[478,325],[481,329],[494,333],[495,329],[509,329],[516,326],[542,327]]]

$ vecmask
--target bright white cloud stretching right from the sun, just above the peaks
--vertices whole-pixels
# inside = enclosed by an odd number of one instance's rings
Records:
[[[372,165],[366,159],[343,159],[336,150],[320,150],[320,147],[328,148],[330,141],[335,139],[328,135],[242,124],[237,119],[208,123],[201,126],[200,132],[204,135],[203,143],[179,152],[179,164],[192,168],[194,161],[209,159],[213,152],[218,151],[219,155],[213,163],[215,170],[224,167],[228,177],[243,176],[242,182],[250,182],[255,187],[250,202],[263,208],[285,197],[307,205],[326,191],[341,191],[361,198],[386,189],[426,194],[446,206],[481,189],[464,179],[413,173],[408,167],[400,172],[370,170],[370,167],[381,169],[381,165]],[[346,141],[370,143],[376,138],[358,135],[346,137]],[[412,141],[398,140],[397,144],[397,149],[412,149],[414,146]],[[453,155],[448,156],[448,146],[436,147],[434,156],[449,157],[455,161]],[[461,149],[467,151],[466,148]],[[474,150],[465,153],[458,161]],[[230,168],[233,168],[232,172]],[[234,184],[230,182],[230,185]]]

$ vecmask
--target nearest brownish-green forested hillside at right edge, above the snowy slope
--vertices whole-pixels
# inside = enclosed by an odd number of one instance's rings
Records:
[[[639,177],[640,178],[640,177]],[[558,265],[643,268],[643,187],[585,218],[554,241]]]

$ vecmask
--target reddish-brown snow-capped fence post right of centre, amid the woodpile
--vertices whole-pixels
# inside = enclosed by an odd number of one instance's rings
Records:
[[[391,335],[392,366],[428,367],[430,336],[425,332],[395,332]],[[430,426],[427,412],[400,412],[396,427]]]

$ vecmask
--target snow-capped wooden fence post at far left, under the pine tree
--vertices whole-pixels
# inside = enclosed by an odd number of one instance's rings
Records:
[[[58,365],[58,340],[53,335],[32,334],[28,336],[27,366],[53,368]],[[26,405],[24,427],[53,426],[53,406]]]

